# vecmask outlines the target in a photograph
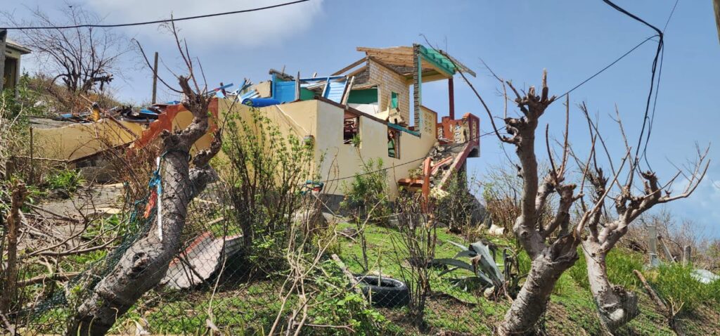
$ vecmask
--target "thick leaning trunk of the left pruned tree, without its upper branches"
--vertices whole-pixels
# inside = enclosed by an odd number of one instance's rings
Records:
[[[155,224],[122,255],[112,272],[78,306],[68,325],[68,336],[105,335],[117,317],[161,281],[170,261],[178,253],[187,205],[210,181],[210,172],[193,170],[191,173],[187,149],[179,146],[169,150],[172,151],[165,155],[162,176],[162,240]]]

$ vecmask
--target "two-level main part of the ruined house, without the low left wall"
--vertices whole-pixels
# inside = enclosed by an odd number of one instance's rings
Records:
[[[361,173],[361,158],[381,158],[391,199],[403,186],[441,192],[467,158],[479,155],[480,119],[470,113],[456,119],[454,112],[454,75],[474,73],[423,45],[357,50],[364,57],[328,76],[271,70],[270,81],[241,88],[239,99],[261,109],[282,132],[312,137],[320,176],[351,177]],[[447,81],[448,104],[436,109],[448,117],[438,119],[423,105],[423,83],[430,81]],[[323,154],[333,160],[320,162]]]

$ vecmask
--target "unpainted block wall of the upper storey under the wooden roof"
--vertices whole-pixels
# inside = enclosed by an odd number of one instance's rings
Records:
[[[400,109],[400,116],[408,124],[410,121],[410,86],[405,81],[405,77],[386,68],[374,60],[368,61],[370,69],[370,83],[379,84],[378,89],[378,109],[384,111],[390,106],[390,97],[392,92],[398,94],[397,107]]]

